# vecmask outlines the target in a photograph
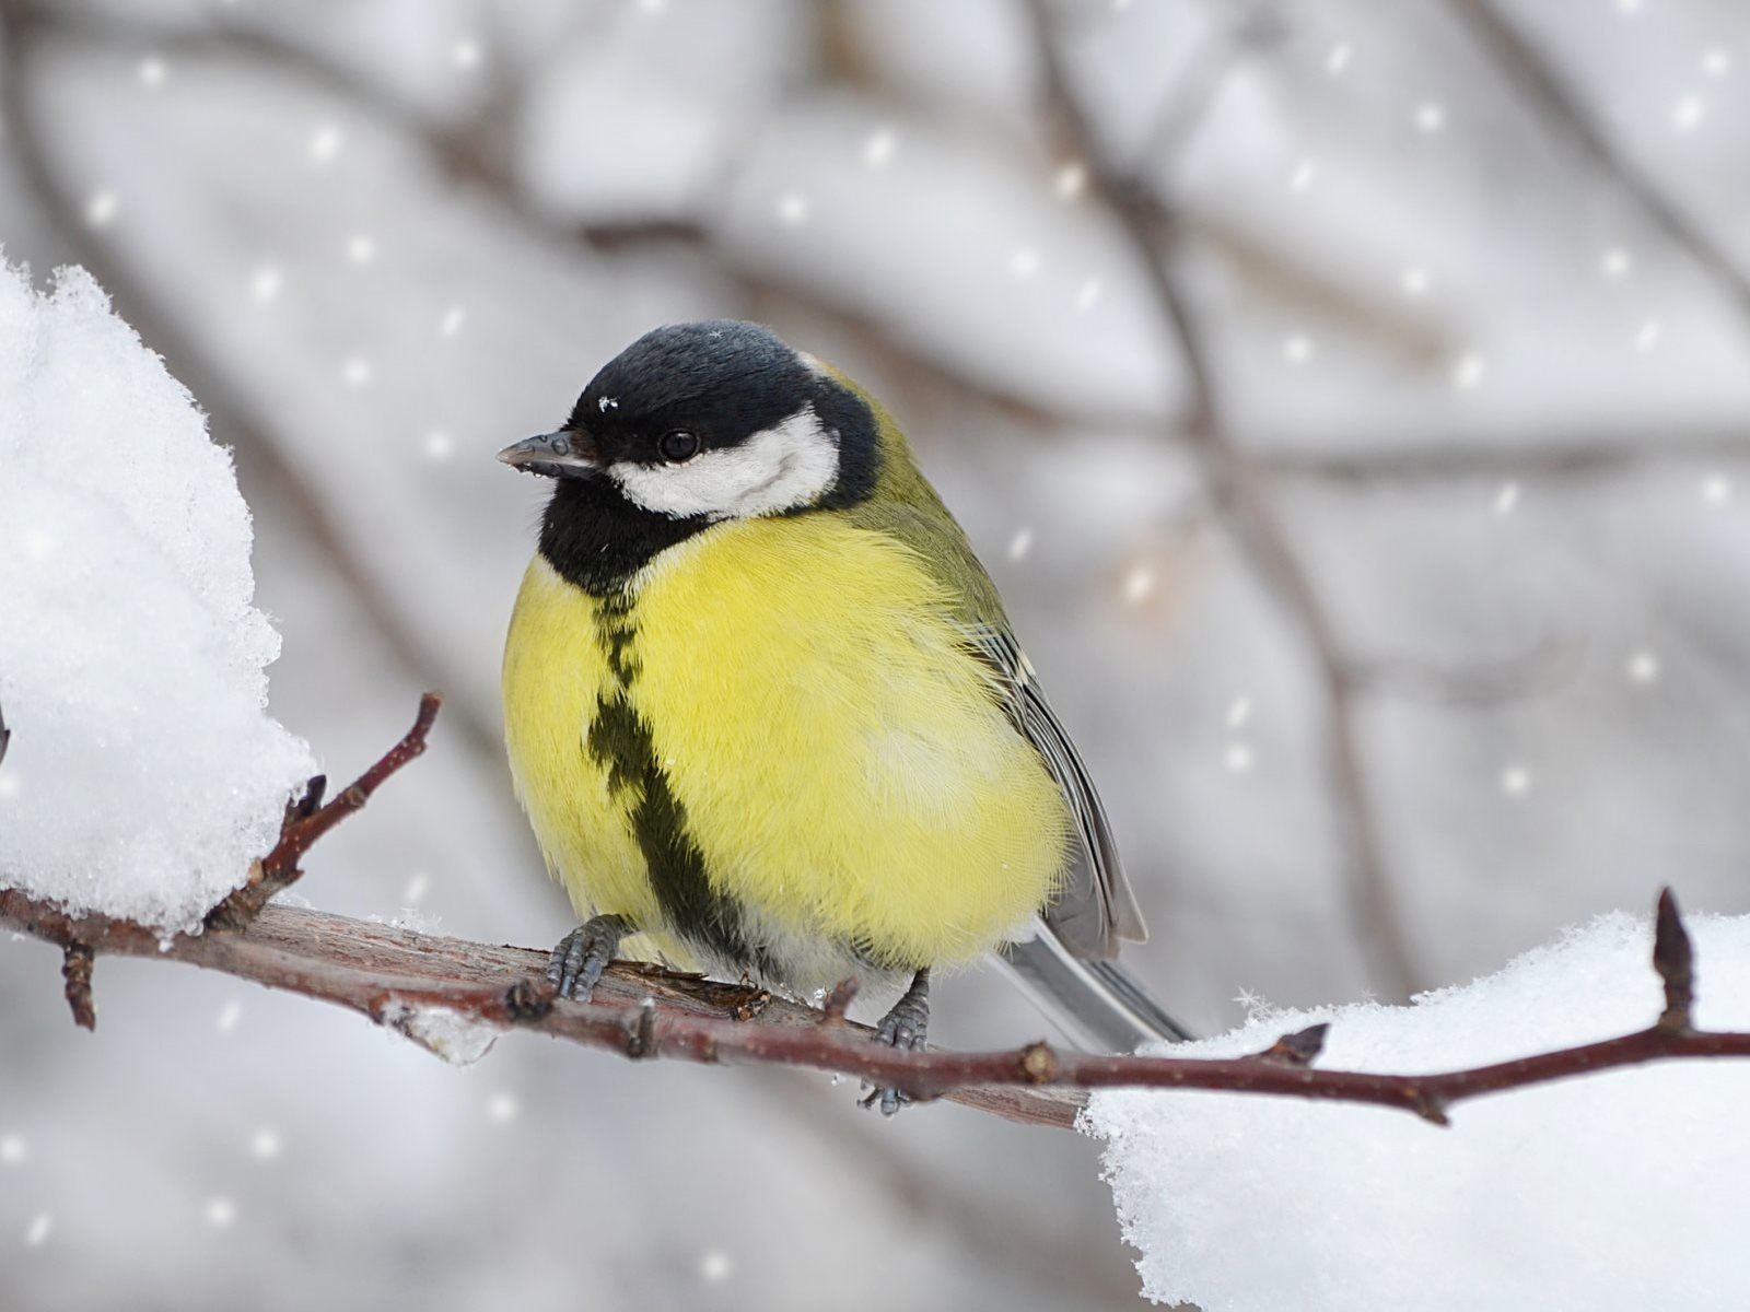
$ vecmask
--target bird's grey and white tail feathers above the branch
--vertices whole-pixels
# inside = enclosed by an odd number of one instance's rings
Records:
[[[1074,957],[1046,925],[1036,925],[1032,938],[1004,945],[998,959],[1080,1048],[1129,1053],[1157,1039],[1192,1037],[1118,962]]]

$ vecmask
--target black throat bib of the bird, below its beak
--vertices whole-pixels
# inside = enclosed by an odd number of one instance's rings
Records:
[[[562,478],[541,516],[541,555],[567,583],[607,597],[710,525],[702,514],[672,520],[634,506],[607,478]]]

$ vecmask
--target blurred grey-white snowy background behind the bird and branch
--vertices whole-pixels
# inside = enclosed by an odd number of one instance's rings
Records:
[[[1414,987],[1661,882],[1750,910],[1750,12],[1496,3],[1517,52],[1477,0],[1062,10],[1358,673]],[[448,696],[313,903],[569,927],[497,745],[541,488],[492,451],[644,329],[738,315],[910,429],[1102,782],[1160,995],[1214,1032],[1405,983],[1349,910],[1318,666],[1178,439],[1183,360],[1024,9],[0,14],[0,245],[86,264],[234,448],[275,715],[350,777]],[[152,962],[100,962],[86,1036],[56,967],[0,945],[9,1309],[1136,1302],[1085,1139],[536,1039],[453,1071]],[[943,1043],[1038,1032],[992,976],[940,990]]]

